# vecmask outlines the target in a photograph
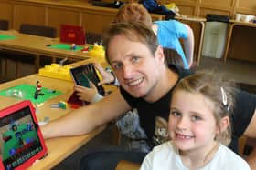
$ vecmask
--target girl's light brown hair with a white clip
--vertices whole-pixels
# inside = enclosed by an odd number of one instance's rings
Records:
[[[182,79],[174,90],[185,90],[189,93],[199,93],[207,97],[214,105],[213,114],[216,124],[220,125],[221,118],[232,113],[234,105],[235,84],[233,81],[225,79],[215,71],[203,70],[194,75],[189,75]],[[216,136],[216,140],[223,145],[229,145],[231,139],[231,125]]]

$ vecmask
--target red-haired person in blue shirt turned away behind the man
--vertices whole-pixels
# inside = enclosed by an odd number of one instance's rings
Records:
[[[122,5],[113,20],[114,23],[126,21],[142,22],[148,25],[157,36],[158,43],[165,49],[165,54],[171,53],[171,55],[165,55],[168,63],[181,65],[185,69],[191,68],[194,56],[194,33],[189,25],[176,20],[152,22],[151,15],[146,8],[138,3]],[[183,39],[185,53],[180,44],[180,38]],[[169,52],[170,50],[176,53]]]

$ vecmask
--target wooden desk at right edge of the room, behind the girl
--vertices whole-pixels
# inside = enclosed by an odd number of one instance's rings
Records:
[[[248,61],[254,61],[255,62],[256,58],[253,57],[253,56],[255,56],[255,52],[256,52],[255,51],[255,45],[254,45],[255,44],[254,43],[255,42],[255,37],[256,37],[255,36],[256,24],[238,22],[236,20],[230,20],[229,21],[229,33],[228,33],[225,53],[224,53],[224,57],[223,57],[224,62],[226,62],[226,60],[228,58],[231,39],[232,39],[232,37],[234,37],[233,30],[236,26],[237,27],[240,26],[242,28],[250,29],[250,30],[247,30],[247,32],[248,31],[250,31],[250,32],[246,33],[245,35],[240,35],[239,37],[236,37],[236,41],[238,43],[235,45],[234,50],[237,49],[237,52],[239,52],[239,53],[237,53],[237,55],[238,54],[240,55],[239,59],[246,59]],[[254,29],[254,31],[251,31],[251,29]]]

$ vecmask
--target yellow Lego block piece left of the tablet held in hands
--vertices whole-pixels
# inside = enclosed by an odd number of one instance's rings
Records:
[[[39,69],[38,75],[47,76],[50,78],[56,78],[60,80],[72,81],[69,73],[71,66],[61,66],[58,64],[45,65],[44,68]]]

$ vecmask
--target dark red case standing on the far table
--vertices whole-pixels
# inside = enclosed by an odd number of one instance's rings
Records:
[[[85,32],[79,25],[60,25],[60,42],[84,45]]]

